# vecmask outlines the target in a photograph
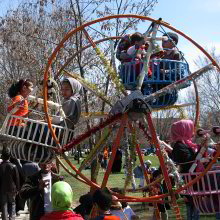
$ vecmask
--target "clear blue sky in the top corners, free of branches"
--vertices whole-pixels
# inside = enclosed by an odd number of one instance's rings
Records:
[[[0,0],[0,16],[22,1]],[[158,0],[150,17],[162,18],[205,49],[215,47],[216,53],[220,54],[220,0]],[[139,32],[145,31],[142,27]],[[182,37],[178,48],[185,54],[191,71],[196,70],[193,61],[202,53]]]

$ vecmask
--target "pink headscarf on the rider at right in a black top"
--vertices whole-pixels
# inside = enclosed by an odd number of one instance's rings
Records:
[[[173,123],[171,126],[172,142],[181,141],[197,152],[198,146],[192,143],[193,134],[194,123],[191,120],[180,120]]]

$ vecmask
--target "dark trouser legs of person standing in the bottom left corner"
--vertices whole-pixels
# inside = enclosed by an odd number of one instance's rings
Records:
[[[2,207],[2,220],[15,220],[16,216],[16,203],[15,193],[2,193],[1,194],[1,207]]]

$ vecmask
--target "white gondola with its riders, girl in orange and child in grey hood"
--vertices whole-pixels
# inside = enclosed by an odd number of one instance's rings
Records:
[[[1,128],[0,134],[7,138],[13,157],[34,162],[48,162],[55,156],[57,143],[52,138],[48,124],[43,120],[28,118],[28,99],[43,103],[40,98],[33,98],[30,93],[33,84],[29,80],[19,80],[13,83],[9,89],[9,97],[12,99],[8,107],[8,114]],[[65,78],[61,83],[63,103],[50,101],[48,104],[58,110],[52,119],[52,128],[60,142],[67,144],[73,138],[74,125],[81,114],[82,86],[73,78]],[[44,117],[43,112],[38,112]]]

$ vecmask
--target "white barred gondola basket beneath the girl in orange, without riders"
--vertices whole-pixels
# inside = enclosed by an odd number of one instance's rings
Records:
[[[20,120],[24,126],[12,125],[12,121]],[[74,135],[74,131],[66,127],[52,125],[61,146],[67,144]],[[8,113],[0,135],[8,140],[12,156],[17,159],[34,162],[46,162],[55,154],[56,142],[52,138],[47,123],[30,118],[24,118]]]

